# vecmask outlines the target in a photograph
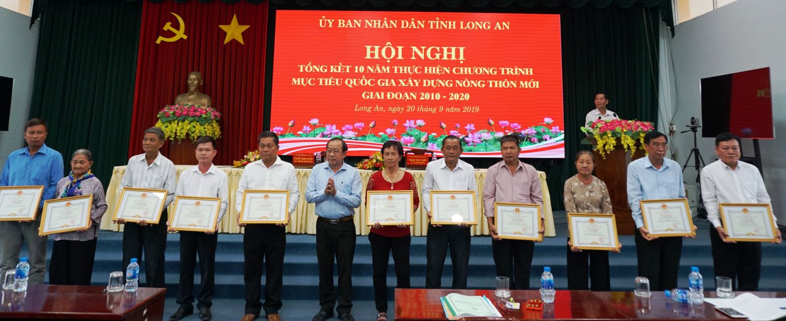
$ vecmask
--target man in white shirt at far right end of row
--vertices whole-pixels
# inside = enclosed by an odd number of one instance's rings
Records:
[[[701,171],[701,196],[707,209],[707,220],[712,223],[710,241],[715,276],[732,279],[733,290],[758,291],[762,275],[762,243],[729,241],[718,215],[718,204],[766,203],[769,194],[762,174],[756,166],[740,162],[740,137],[721,133],[715,137],[715,154],[718,160]],[[773,215],[773,223],[777,221]],[[780,231],[776,229],[780,243]],[[736,286],[734,280],[736,279]]]

